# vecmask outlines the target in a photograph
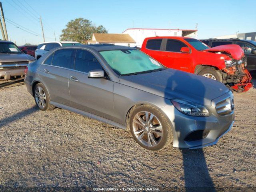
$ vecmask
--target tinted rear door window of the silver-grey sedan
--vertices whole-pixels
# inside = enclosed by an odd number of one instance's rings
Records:
[[[54,52],[52,65],[71,68],[71,63],[74,60],[74,49],[60,49]]]

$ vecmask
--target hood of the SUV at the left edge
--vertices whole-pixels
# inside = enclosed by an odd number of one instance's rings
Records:
[[[31,61],[35,60],[34,57],[24,53],[1,53],[0,62],[18,62],[18,61]]]

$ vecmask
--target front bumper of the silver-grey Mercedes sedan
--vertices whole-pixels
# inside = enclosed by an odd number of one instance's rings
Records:
[[[222,100],[231,96],[231,94],[231,92],[228,92],[213,101]],[[182,114],[172,104],[161,108],[172,126],[173,147],[195,149],[214,145],[221,136],[231,129],[234,123],[234,111],[230,114],[220,115],[215,106],[207,107],[212,112],[209,117]]]

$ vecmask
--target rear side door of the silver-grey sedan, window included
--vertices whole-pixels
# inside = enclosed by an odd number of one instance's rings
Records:
[[[39,76],[53,102],[70,106],[68,77],[75,51],[70,48],[56,50],[40,66]]]

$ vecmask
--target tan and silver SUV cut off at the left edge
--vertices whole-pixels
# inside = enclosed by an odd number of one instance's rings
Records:
[[[13,42],[0,41],[0,80],[24,76],[26,66],[34,60],[34,57],[22,53]]]

